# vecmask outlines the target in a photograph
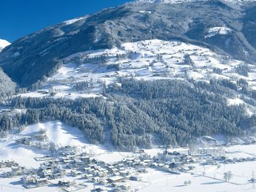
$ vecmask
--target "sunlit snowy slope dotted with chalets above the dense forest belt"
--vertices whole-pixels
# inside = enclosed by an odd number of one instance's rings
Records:
[[[211,33],[225,34],[225,28],[209,29]],[[121,48],[94,50],[76,53],[64,59],[64,65],[53,77],[48,78],[39,92],[22,96],[49,96],[50,87],[56,91],[56,98],[100,96],[102,84],[117,82],[118,77],[133,77],[137,80],[162,79],[227,79],[233,82],[243,78],[256,88],[255,66],[250,68],[249,77],[241,76],[236,67],[243,61],[218,55],[211,50],[184,42],[167,42],[158,39],[128,42]],[[217,73],[216,69],[222,71]],[[86,91],[75,91],[75,82],[88,82]],[[42,93],[46,92],[46,93]]]

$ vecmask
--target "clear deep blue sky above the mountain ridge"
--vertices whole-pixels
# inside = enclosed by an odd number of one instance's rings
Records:
[[[10,42],[46,26],[131,0],[0,0],[0,39]]]

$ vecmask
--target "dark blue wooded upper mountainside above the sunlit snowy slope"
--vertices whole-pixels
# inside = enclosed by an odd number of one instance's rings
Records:
[[[26,87],[54,74],[69,55],[145,39],[191,43],[254,64],[255,10],[214,0],[125,4],[23,37],[0,54],[0,65]]]

